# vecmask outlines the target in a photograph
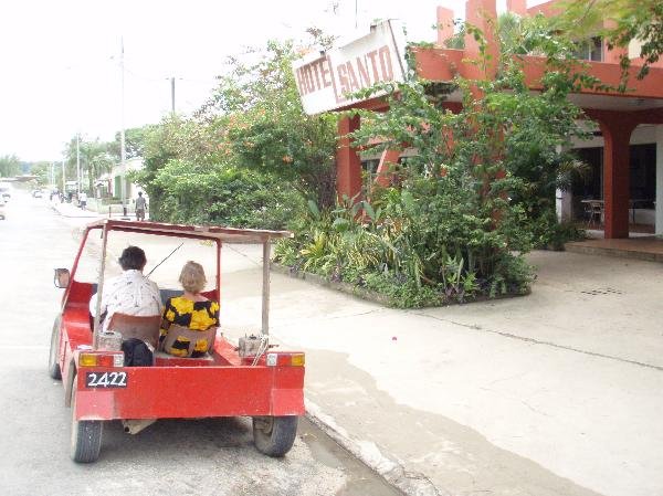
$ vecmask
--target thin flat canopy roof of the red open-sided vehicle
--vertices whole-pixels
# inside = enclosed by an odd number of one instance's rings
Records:
[[[165,222],[136,222],[103,219],[87,225],[92,229],[125,231],[173,238],[193,238],[199,240],[219,240],[225,243],[265,243],[272,239],[293,238],[290,231],[270,231],[260,229],[224,228],[220,225],[168,224]]]

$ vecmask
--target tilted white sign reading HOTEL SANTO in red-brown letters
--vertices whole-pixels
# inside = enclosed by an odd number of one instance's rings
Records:
[[[371,27],[368,35],[340,49],[295,61],[293,71],[304,112],[319,114],[345,107],[360,102],[350,96],[359,89],[404,81],[404,50],[401,25],[391,20]]]

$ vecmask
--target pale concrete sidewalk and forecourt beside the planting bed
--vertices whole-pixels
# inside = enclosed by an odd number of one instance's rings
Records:
[[[224,257],[239,337],[260,252]],[[407,494],[663,494],[663,265],[530,262],[530,296],[410,312],[273,274],[272,335],[307,353],[309,414]]]

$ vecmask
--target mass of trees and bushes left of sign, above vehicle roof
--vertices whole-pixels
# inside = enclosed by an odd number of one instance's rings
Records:
[[[335,116],[307,116],[296,92],[292,43],[240,62],[191,118],[145,129],[145,169],[133,175],[152,219],[281,229],[306,199],[335,197]]]

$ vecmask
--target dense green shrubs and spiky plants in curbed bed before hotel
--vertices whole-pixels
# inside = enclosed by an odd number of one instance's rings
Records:
[[[504,32],[493,80],[440,85],[412,72],[398,89],[379,88],[389,92],[389,110],[361,112],[354,138],[417,152],[392,170],[394,186],[366,201],[312,208],[298,236],[278,246],[280,261],[386,293],[397,306],[527,292],[533,271],[523,253],[561,234],[555,190],[577,167],[564,150],[585,134],[567,96],[596,81],[570,68],[572,43],[551,41],[540,20]],[[538,94],[518,57],[535,49],[549,60]],[[457,114],[443,105],[452,91],[463,95]]]

